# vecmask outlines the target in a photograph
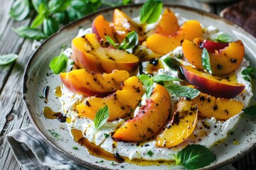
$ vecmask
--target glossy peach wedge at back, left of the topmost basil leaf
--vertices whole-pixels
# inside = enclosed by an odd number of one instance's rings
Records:
[[[127,33],[131,32],[132,30],[135,30],[138,33],[139,41],[144,40],[143,28],[138,26],[137,23],[132,21],[132,19],[127,16],[127,14],[117,8],[114,9],[113,23],[114,30],[117,33],[117,38],[119,39],[119,42],[122,42]]]

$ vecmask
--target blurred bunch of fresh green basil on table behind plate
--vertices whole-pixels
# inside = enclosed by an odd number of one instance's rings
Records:
[[[101,0],[16,0],[9,14],[15,21],[23,21],[33,17],[29,13],[37,13],[31,26],[13,28],[13,30],[23,38],[42,40],[55,33],[60,26],[97,11],[102,6],[130,3],[132,0],[123,0],[119,4],[105,3]]]

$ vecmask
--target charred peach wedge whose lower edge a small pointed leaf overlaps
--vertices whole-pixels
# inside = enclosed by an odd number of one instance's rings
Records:
[[[142,100],[143,94],[142,82],[137,77],[130,77],[124,81],[122,89],[104,98],[87,97],[76,108],[78,115],[94,120],[97,111],[107,105],[110,111],[107,121],[112,121],[117,118],[124,118],[131,113]]]

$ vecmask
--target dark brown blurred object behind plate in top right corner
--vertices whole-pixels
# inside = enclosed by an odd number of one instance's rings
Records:
[[[244,28],[256,38],[256,1],[241,1],[225,8],[220,16]]]

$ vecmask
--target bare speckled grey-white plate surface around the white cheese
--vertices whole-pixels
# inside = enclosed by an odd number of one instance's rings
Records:
[[[133,18],[139,16],[140,7],[141,5],[137,4],[119,8]],[[181,16],[185,18],[196,19],[205,26],[216,26],[224,33],[231,35],[234,40],[242,40],[246,48],[247,60],[250,60],[252,67],[256,67],[256,40],[238,26],[225,21],[223,18],[193,8],[171,5],[166,5],[165,7],[171,8],[172,11],[180,13]],[[93,13],[90,16],[86,16],[85,18],[71,23],[48,38],[48,40],[43,42],[43,45],[36,50],[31,60],[28,62],[23,79],[23,98],[26,103],[29,118],[40,135],[48,141],[51,146],[57,149],[58,152],[90,169],[169,169],[169,166],[166,165],[138,166],[123,163],[113,166],[109,161],[96,163],[99,162],[101,158],[92,157],[90,154],[87,154],[85,147],[78,146],[78,144],[73,141],[72,137],[70,137],[65,123],[43,117],[42,108],[45,106],[49,106],[53,111],[60,109],[60,103],[54,94],[55,87],[60,85],[60,78],[58,75],[51,74],[48,68],[50,60],[60,54],[63,45],[70,47],[71,40],[78,34],[79,28],[91,27],[92,21],[96,16],[102,14],[108,21],[112,21],[113,10],[114,8],[108,8],[98,11],[97,13]],[[253,86],[255,86],[255,82],[253,82],[253,84]],[[50,86],[48,103],[44,103],[43,99],[38,97],[40,94],[43,94],[43,88],[45,86]],[[256,94],[255,89],[254,94]],[[252,103],[255,103],[255,97],[252,98],[252,100]],[[55,132],[58,132],[60,136],[63,137],[63,140],[56,139],[48,130],[55,130]],[[238,125],[234,128],[234,132],[233,135],[228,135],[223,142],[210,148],[218,159],[214,164],[207,166],[206,169],[216,169],[225,164],[234,162],[236,159],[249,152],[253,145],[256,145],[255,118],[241,117]],[[234,140],[239,141],[240,144],[234,145]],[[77,146],[78,149],[73,149],[72,147],[74,146]],[[181,167],[176,167],[174,169],[180,168]]]

